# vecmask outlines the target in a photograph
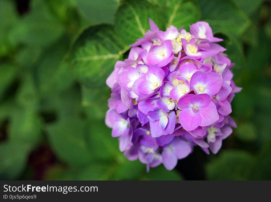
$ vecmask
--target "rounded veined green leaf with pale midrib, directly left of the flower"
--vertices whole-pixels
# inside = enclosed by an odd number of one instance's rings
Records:
[[[79,82],[90,88],[104,87],[124,47],[113,26],[92,26],[76,40],[68,61]]]

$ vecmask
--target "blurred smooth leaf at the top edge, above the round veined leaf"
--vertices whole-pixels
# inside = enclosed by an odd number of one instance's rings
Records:
[[[102,22],[113,23],[114,13],[119,5],[119,1],[117,0],[76,0],[76,3],[81,14],[91,24],[98,24]]]

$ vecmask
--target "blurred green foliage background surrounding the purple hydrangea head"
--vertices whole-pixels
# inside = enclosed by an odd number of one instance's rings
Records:
[[[271,180],[270,11],[270,0],[0,0],[0,179]],[[220,152],[196,147],[173,171],[146,173],[104,125],[105,78],[148,17],[161,29],[207,21],[243,87]],[[76,60],[102,54],[100,44],[119,58]]]

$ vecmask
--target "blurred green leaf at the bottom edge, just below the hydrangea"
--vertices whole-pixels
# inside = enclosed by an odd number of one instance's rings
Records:
[[[145,173],[140,180],[183,180],[182,176],[176,171],[168,171],[163,165],[151,168],[150,172]]]

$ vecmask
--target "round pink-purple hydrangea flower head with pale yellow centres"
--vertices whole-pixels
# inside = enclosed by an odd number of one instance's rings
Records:
[[[129,160],[171,170],[195,145],[218,152],[236,127],[229,114],[241,88],[207,22],[192,24],[190,32],[149,23],[151,30],[107,78],[112,93],[105,122]]]

